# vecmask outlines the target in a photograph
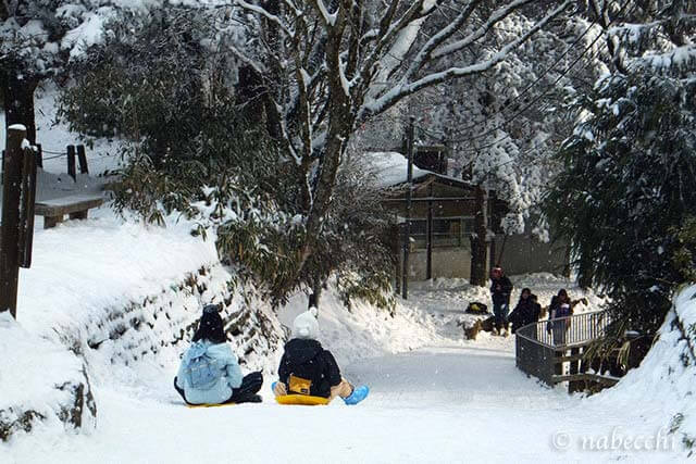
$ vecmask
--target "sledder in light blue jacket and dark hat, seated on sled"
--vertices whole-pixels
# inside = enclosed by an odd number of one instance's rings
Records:
[[[184,353],[174,388],[188,404],[260,402],[260,372],[241,376],[237,356],[227,344],[217,306],[208,304],[191,346]]]

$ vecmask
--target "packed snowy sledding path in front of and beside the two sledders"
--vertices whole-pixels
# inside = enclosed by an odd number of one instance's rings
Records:
[[[664,453],[583,452],[582,436],[629,426],[632,413],[582,407],[577,397],[538,386],[514,367],[510,343],[501,349],[435,347],[362,360],[345,371],[351,379],[369,384],[372,393],[351,407],[340,401],[326,407],[276,405],[268,381],[262,404],[197,410],[184,407],[164,386],[102,388],[99,428],[91,436],[23,440],[12,448],[12,456],[22,463],[573,462],[610,457],[655,462],[669,457]],[[568,434],[568,450],[556,449],[555,434]],[[563,448],[564,442],[560,444]]]

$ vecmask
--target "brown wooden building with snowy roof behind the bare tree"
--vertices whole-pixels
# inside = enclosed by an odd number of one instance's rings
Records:
[[[428,147],[433,151],[436,148]],[[396,269],[397,281],[401,280],[406,224],[409,221],[408,276],[410,280],[447,277],[470,279],[472,272],[472,240],[475,215],[485,209],[487,228],[495,237],[486,244],[487,269],[497,264],[508,274],[530,272],[561,273],[566,271],[567,247],[543,243],[533,234],[504,236],[500,220],[507,213],[506,203],[495,197],[483,204],[476,201],[476,186],[448,176],[413,166],[411,208],[408,209],[408,161],[398,152],[368,153],[373,160],[375,174],[384,187],[385,203],[394,212],[395,227],[398,227],[398,242],[395,253],[399,256]],[[417,161],[418,155],[415,156]],[[433,164],[445,166],[442,156],[428,156]],[[445,159],[446,160],[446,159]],[[435,167],[435,166],[434,166]],[[504,250],[501,254],[500,251]]]

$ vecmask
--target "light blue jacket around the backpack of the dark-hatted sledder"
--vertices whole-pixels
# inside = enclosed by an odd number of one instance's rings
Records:
[[[203,351],[204,350],[204,351]],[[219,360],[223,371],[217,384],[208,390],[192,388],[188,384],[186,371],[190,360],[201,352],[207,352],[209,356]],[[186,401],[192,404],[217,404],[224,403],[232,397],[232,389],[241,386],[241,369],[237,362],[237,356],[232,352],[227,343],[213,344],[209,340],[199,340],[184,353],[182,364],[176,374],[176,386],[184,390]]]

